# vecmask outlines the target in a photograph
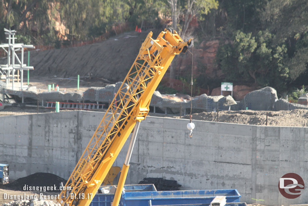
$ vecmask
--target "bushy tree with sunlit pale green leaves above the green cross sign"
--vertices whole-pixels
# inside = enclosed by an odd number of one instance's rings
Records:
[[[273,38],[274,35],[268,31],[260,31],[256,36],[237,31],[234,42],[221,46],[217,53],[227,80],[283,86],[289,75],[284,64],[287,50],[284,44],[273,44]]]

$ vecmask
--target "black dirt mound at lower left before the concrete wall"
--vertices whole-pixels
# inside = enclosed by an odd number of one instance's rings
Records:
[[[2,188],[17,190],[17,191],[48,191],[58,192],[60,183],[63,185],[67,180],[51,173],[38,172],[26,177],[19,178],[12,183],[2,186]]]

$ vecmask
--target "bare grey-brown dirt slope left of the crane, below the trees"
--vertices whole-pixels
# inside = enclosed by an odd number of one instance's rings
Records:
[[[80,76],[122,81],[134,62],[148,32],[128,32],[106,41],[47,51],[31,51],[30,76],[62,78]]]

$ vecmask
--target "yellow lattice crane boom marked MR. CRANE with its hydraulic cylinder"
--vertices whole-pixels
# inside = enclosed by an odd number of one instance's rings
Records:
[[[129,134],[133,131],[112,205],[118,206],[128,172],[140,121],[149,112],[154,91],[175,55],[193,46],[173,29],[164,29],[156,39],[148,34],[139,54],[115,94],[103,119],[75,166],[58,202],[63,206],[88,206],[108,174]]]

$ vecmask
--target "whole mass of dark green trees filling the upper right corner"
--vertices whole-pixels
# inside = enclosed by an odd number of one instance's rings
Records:
[[[302,74],[308,62],[308,2],[300,0],[223,1],[228,13],[227,27],[232,36],[221,44],[217,62],[229,81],[253,82],[256,86],[286,88]],[[240,12],[255,8],[256,16]],[[241,16],[241,21],[234,15]],[[247,15],[249,18],[247,19]],[[245,20],[244,20],[245,19]],[[239,23],[242,22],[242,27]]]

